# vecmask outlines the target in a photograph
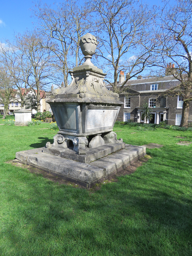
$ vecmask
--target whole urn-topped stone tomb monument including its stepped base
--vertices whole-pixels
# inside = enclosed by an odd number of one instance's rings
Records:
[[[97,40],[86,34],[80,40],[85,62],[70,71],[72,82],[52,92],[47,102],[59,132],[53,144],[16,153],[24,164],[43,169],[85,187],[115,174],[146,154],[143,146],[125,145],[117,140],[113,126],[123,102],[105,88],[106,74],[91,58]]]

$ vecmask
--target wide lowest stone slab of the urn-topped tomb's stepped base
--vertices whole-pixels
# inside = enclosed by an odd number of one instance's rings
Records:
[[[134,161],[146,155],[144,146],[125,145],[116,153],[102,157],[91,163],[81,163],[43,152],[44,148],[36,148],[16,153],[21,163],[34,166],[45,172],[75,182],[86,188],[102,179],[123,170]],[[93,149],[92,149],[93,150]],[[71,150],[72,152],[72,150]]]

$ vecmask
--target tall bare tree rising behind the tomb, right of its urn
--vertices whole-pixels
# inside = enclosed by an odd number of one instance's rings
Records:
[[[97,17],[100,37],[97,55],[103,58],[109,76],[113,76],[112,82],[106,81],[115,92],[124,91],[129,79],[153,66],[151,50],[155,45],[151,40],[151,25],[154,10],[134,0],[90,0],[89,5]],[[121,71],[129,75],[121,86],[117,86]]]

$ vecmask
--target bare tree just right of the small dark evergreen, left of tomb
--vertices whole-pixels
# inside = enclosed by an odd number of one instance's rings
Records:
[[[40,112],[40,92],[45,90],[54,76],[52,51],[49,41],[45,44],[43,36],[33,32],[25,32],[23,35],[17,35],[16,47],[20,52],[22,69],[21,80],[35,93],[37,99],[37,112]]]

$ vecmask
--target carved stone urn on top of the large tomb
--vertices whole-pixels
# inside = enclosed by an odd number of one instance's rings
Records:
[[[91,58],[92,58],[92,55],[95,53],[97,44],[98,44],[97,39],[90,33],[87,33],[86,35],[81,37],[80,47],[83,55],[85,56],[85,62],[83,63],[83,65],[93,66],[91,62]]]

